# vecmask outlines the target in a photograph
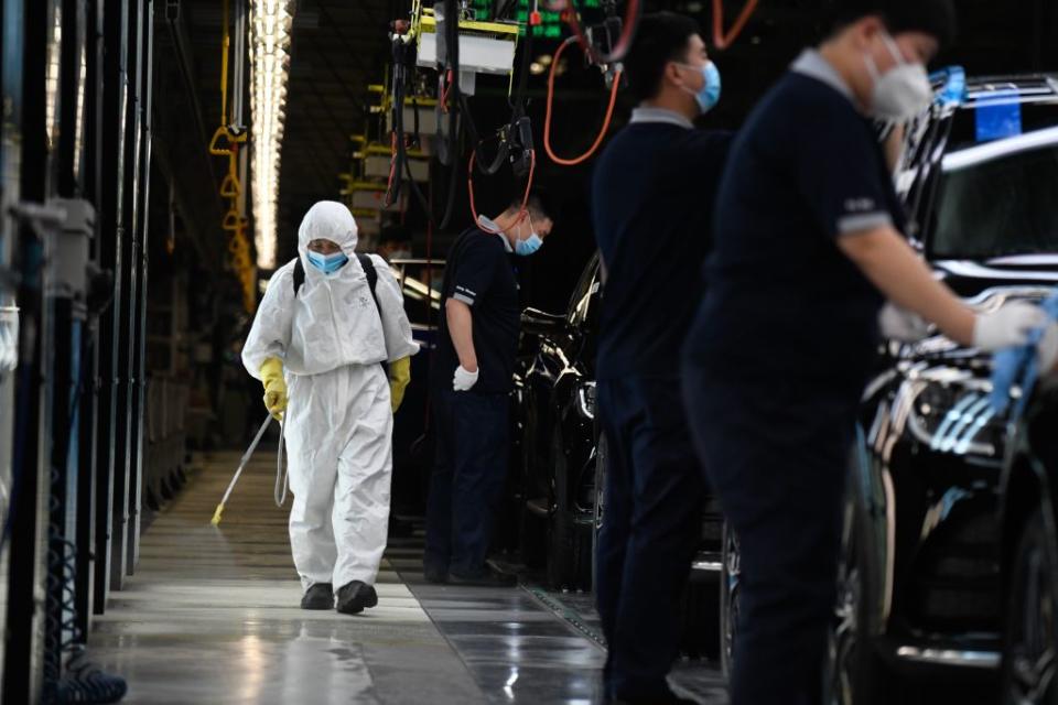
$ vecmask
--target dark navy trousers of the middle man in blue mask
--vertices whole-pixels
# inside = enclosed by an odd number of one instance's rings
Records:
[[[705,485],[678,377],[600,381],[597,392],[608,444],[595,557],[606,690],[616,698],[661,697],[678,653]]]

